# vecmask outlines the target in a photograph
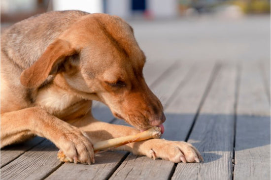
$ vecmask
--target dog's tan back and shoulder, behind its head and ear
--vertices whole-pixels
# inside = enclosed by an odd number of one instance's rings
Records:
[[[81,16],[82,11],[54,11],[30,17],[1,32],[1,113],[31,107],[31,94],[20,83],[46,47]],[[7,98],[8,97],[8,98]]]

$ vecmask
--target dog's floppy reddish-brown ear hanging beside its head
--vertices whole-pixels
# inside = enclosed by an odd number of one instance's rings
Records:
[[[40,86],[56,65],[75,53],[76,50],[71,48],[68,41],[56,39],[32,66],[22,72],[21,84],[26,88]]]

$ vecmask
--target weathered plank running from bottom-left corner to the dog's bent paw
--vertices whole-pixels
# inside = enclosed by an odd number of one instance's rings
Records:
[[[40,180],[61,165],[57,148],[44,141],[1,168],[1,180]]]

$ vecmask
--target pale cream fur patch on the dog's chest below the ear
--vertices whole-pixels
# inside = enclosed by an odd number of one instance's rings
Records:
[[[68,93],[66,90],[51,87],[38,92],[35,104],[50,114],[61,114],[63,110],[80,100],[79,97]]]

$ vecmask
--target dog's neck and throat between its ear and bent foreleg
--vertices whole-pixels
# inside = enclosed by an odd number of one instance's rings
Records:
[[[84,116],[91,111],[92,100],[99,100],[95,94],[72,89],[63,75],[58,74],[52,82],[39,89],[35,105],[63,120]]]

